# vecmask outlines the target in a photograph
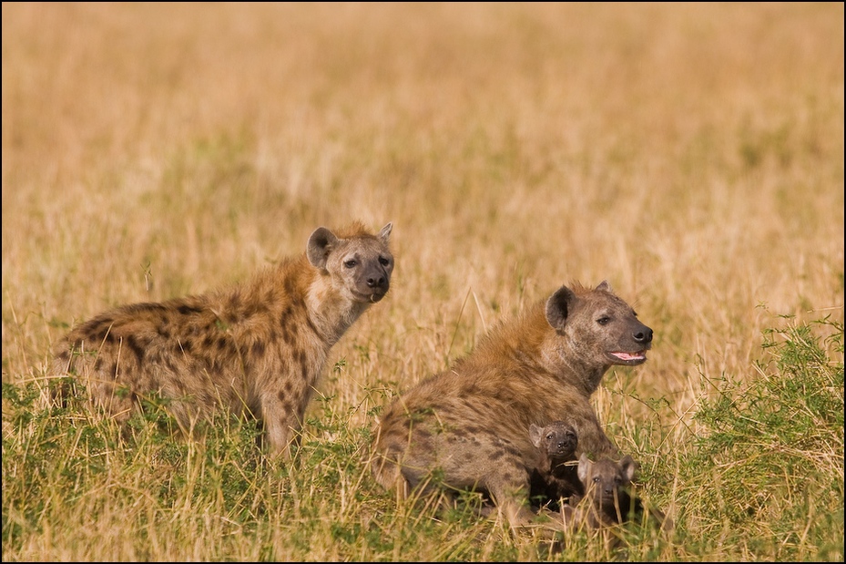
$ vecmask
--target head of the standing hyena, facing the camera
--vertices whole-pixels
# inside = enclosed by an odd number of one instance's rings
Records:
[[[319,227],[309,237],[306,254],[313,266],[329,272],[332,286],[353,302],[376,303],[391,285],[393,255],[388,237],[392,229],[388,223],[377,235],[362,230],[339,237]]]

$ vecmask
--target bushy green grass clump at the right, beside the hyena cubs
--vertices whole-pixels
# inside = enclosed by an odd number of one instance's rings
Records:
[[[764,332],[758,376],[711,380],[695,417],[680,521],[706,553],[722,541],[739,559],[843,558],[843,325],[787,321]]]

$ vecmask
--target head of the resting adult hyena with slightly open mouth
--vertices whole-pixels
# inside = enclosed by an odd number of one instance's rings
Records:
[[[652,347],[652,330],[607,281],[594,290],[562,286],[546,301],[546,321],[589,364],[643,364]]]

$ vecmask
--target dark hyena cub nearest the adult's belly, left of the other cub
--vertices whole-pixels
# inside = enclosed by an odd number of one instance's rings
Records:
[[[578,477],[576,429],[564,421],[547,426],[529,426],[529,438],[538,449],[537,467],[532,470],[530,491],[536,505],[559,510],[562,503],[576,505],[585,493]],[[533,503],[535,505],[535,503]]]

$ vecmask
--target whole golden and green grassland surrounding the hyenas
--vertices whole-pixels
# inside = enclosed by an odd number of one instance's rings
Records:
[[[3,19],[3,560],[843,559],[843,5],[38,4]],[[392,221],[293,464],[123,440],[70,326]],[[564,547],[397,505],[374,417],[561,284],[655,331],[595,398],[672,516]]]

